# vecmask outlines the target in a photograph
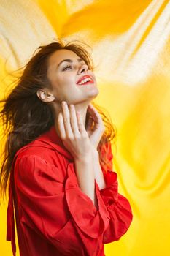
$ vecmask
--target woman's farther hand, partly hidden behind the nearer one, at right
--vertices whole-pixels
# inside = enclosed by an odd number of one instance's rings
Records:
[[[86,125],[86,131],[88,132],[90,143],[93,145],[93,148],[97,150],[98,143],[104,134],[105,127],[100,114],[92,104],[88,105],[88,112],[90,113],[90,118]]]

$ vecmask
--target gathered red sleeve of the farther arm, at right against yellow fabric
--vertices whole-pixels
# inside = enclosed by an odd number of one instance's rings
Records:
[[[110,143],[107,144],[107,159],[109,166],[112,166],[113,155]],[[103,243],[107,244],[119,240],[127,232],[133,214],[128,199],[118,193],[117,173],[113,170],[107,170],[107,173],[103,173],[107,187],[99,191],[110,217],[109,225],[103,237]]]

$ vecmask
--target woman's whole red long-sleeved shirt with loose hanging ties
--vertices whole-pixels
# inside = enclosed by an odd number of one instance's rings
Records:
[[[110,143],[108,147],[112,161]],[[13,255],[15,207],[20,256],[104,256],[104,244],[120,239],[133,215],[128,200],[117,192],[117,173],[102,171],[107,187],[100,190],[95,180],[96,208],[80,189],[74,159],[55,127],[20,148],[13,160],[7,210]]]

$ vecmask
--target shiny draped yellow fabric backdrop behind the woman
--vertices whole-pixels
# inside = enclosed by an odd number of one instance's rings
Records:
[[[169,255],[170,2],[1,0],[0,16],[1,80],[4,64],[8,71],[26,64],[53,38],[93,48],[96,102],[117,127],[114,167],[134,213],[128,232],[106,244],[105,254]],[[1,81],[1,96],[6,86]],[[8,256],[6,208],[0,208],[0,255]]]

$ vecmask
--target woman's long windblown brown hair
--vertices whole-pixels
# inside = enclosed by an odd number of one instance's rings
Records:
[[[84,43],[84,45],[86,44]],[[67,42],[64,44],[61,40],[58,40],[40,46],[36,50],[34,56],[24,67],[15,88],[12,89],[6,99],[0,100],[0,103],[4,103],[0,111],[0,117],[5,131],[4,135],[7,136],[4,152],[1,154],[0,192],[3,196],[7,192],[12,160],[16,152],[54,125],[51,108],[37,97],[36,91],[50,86],[50,81],[47,79],[47,61],[51,54],[61,49],[72,50],[85,61],[89,69],[93,70],[93,60],[90,58],[88,50],[81,43]],[[115,139],[115,128],[113,128],[111,118],[107,117],[96,103],[92,102],[92,104],[101,114],[106,127],[98,144],[100,155],[101,146]],[[87,116],[86,121],[88,121],[88,118],[89,116]],[[102,154],[102,157],[100,156],[100,162],[103,166],[108,165],[104,154]]]

